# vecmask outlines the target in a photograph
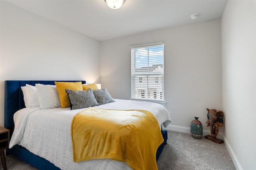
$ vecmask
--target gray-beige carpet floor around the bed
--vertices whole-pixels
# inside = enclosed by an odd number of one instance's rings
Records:
[[[159,170],[236,170],[223,143],[175,131],[168,131],[167,142],[157,162]],[[8,170],[36,170],[13,155],[6,156],[6,164]]]

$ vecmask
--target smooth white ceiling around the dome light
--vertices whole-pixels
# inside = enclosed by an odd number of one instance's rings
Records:
[[[104,0],[7,0],[99,41],[210,21],[228,0],[126,0],[117,10]],[[198,14],[196,20],[191,15]]]

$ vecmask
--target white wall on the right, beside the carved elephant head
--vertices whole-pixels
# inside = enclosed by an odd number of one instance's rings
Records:
[[[224,136],[237,169],[256,169],[256,3],[229,0],[222,16]]]

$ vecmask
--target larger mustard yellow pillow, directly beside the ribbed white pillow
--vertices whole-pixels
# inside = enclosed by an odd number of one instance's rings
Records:
[[[82,91],[82,82],[54,82],[60,98],[61,108],[70,107],[70,101],[65,89]]]

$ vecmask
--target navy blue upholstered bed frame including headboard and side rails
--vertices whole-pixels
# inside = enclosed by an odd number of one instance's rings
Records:
[[[58,81],[58,80],[56,80]],[[77,82],[81,80],[75,80],[75,81],[58,81],[58,82]],[[16,111],[19,109],[22,109],[25,107],[24,99],[23,99],[23,93],[21,90],[21,86],[26,86],[26,84],[30,84],[35,86],[35,84],[54,84],[55,81],[40,81],[40,80],[6,80],[5,81],[5,96],[4,96],[4,127],[6,129],[10,129],[10,137],[12,136],[12,132],[14,130],[14,121],[13,121],[13,115]],[[82,81],[82,84],[84,84],[85,81]],[[164,142],[162,145],[158,147],[157,153],[156,153],[156,160],[158,160],[164,145],[167,143],[167,131],[162,131],[162,135],[164,138]],[[14,156],[17,156],[21,160],[31,164],[32,166],[35,166],[36,168],[40,170],[60,170],[60,168],[54,166],[51,162],[48,160],[41,158],[40,156],[37,156],[35,154],[32,154],[30,151],[25,149],[24,147],[21,147],[19,145],[15,145],[12,147],[12,149],[6,149],[6,154],[13,154]]]

